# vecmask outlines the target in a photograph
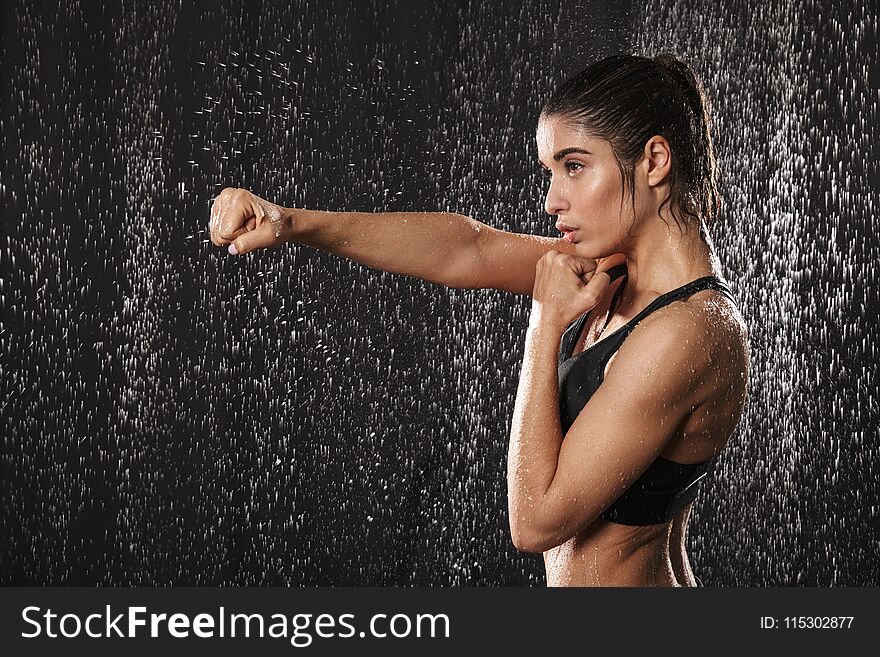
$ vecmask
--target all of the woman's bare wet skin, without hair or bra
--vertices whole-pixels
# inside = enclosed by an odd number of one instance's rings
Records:
[[[695,225],[681,232],[668,210],[658,216],[668,191],[665,140],[646,143],[632,202],[622,196],[607,142],[546,119],[537,137],[550,174],[545,207],[565,241],[498,231],[449,213],[280,208],[238,189],[215,200],[211,239],[218,246],[234,240],[238,253],[294,241],[442,285],[531,294],[508,456],[514,543],[544,553],[550,585],[693,585],[688,510],[645,527],[600,516],[656,455],[696,463],[723,448],[745,403],[745,324],[711,290],[651,314],[609,361],[605,381],[562,436],[556,389],[562,332],[592,309],[574,352],[601,340],[599,327],[621,283],[598,272],[627,265],[626,289],[604,331],[609,335],[657,296],[720,276],[721,269]],[[447,248],[426,252],[425,243]]]

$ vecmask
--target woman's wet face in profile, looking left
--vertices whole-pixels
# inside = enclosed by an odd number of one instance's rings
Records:
[[[633,206],[629,194],[621,197],[624,183],[611,144],[561,117],[542,116],[536,137],[550,178],[544,208],[556,215],[564,239],[586,258],[625,252]]]

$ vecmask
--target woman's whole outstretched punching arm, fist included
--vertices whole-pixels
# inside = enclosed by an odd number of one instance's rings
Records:
[[[558,238],[508,233],[456,213],[284,208],[231,188],[214,201],[211,239],[232,243],[238,253],[296,242],[448,287],[518,294],[531,294],[535,264],[545,253],[574,252]],[[607,258],[605,268],[621,258]]]

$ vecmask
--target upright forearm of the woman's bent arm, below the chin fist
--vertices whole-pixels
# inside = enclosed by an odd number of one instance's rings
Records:
[[[511,423],[507,493],[514,544],[538,551],[545,495],[559,462],[562,426],[557,390],[557,354],[562,334],[532,321]]]

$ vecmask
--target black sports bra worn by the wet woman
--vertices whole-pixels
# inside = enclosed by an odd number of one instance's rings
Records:
[[[607,273],[612,281],[626,276],[626,265],[612,267]],[[614,293],[605,326],[608,326],[624,287],[626,279]],[[605,366],[636,325],[658,308],[707,289],[718,290],[736,303],[730,289],[720,279],[704,276],[660,295],[624,326],[574,356],[571,355],[572,351],[590,313],[584,313],[566,329],[560,345],[558,369],[563,435],[602,385]],[[693,464],[676,463],[658,456],[642,476],[602,513],[602,519],[622,525],[653,525],[669,521],[694,501],[697,496],[696,484],[706,476],[713,463],[714,459]]]

